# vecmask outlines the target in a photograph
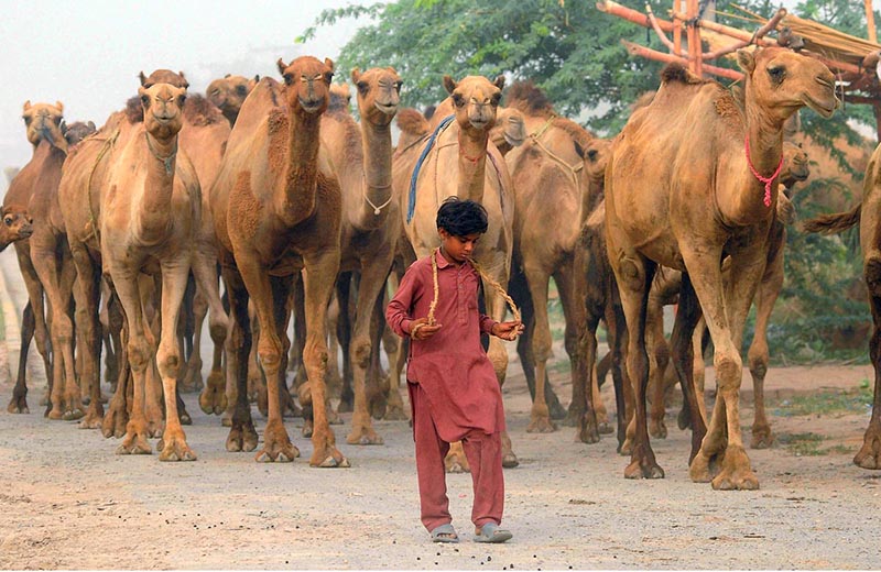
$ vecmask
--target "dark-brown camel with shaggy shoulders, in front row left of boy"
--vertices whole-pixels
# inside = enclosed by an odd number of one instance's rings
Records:
[[[257,448],[247,395],[251,345],[247,304],[260,321],[258,353],[268,381],[269,419],[258,461],[293,461],[298,454],[282,421],[279,395],[287,348],[292,276],[305,268],[306,346],[303,362],[314,404],[313,466],[348,466],[327,421],[327,304],[339,271],[340,190],[319,153],[320,116],[327,109],[334,64],[312,56],[279,59],[282,89],[263,78],[236,120],[220,174],[211,187],[224,283],[232,328],[228,371],[237,381],[230,451]]]

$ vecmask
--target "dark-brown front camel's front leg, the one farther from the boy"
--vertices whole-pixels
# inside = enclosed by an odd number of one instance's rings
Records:
[[[271,278],[251,253],[237,252],[236,262],[260,321],[257,353],[267,383],[267,428],[263,430],[263,448],[254,459],[258,462],[290,463],[300,455],[300,451],[291,443],[282,420],[278,378],[283,349],[275,329]]]

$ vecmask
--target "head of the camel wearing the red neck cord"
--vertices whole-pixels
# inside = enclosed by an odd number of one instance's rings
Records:
[[[747,75],[748,116],[758,106],[782,125],[804,106],[829,118],[839,105],[835,76],[818,59],[782,47],[738,50],[737,56]]]

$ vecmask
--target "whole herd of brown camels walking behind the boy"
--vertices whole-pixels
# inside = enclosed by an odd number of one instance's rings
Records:
[[[610,140],[558,116],[531,81],[505,91],[503,76],[445,76],[449,97],[422,114],[399,109],[403,80],[393,68],[356,68],[349,87],[333,84],[333,62],[311,56],[279,59],[281,82],[227,76],[205,97],[188,94],[183,73],[142,73],[137,97],[97,130],[66,125],[61,102],[26,102],[33,157],[10,185],[0,226],[0,248],[14,243],[29,294],[8,410],[29,413],[23,364],[35,339],[50,381],[46,416],[121,438],[120,454],[151,453],[149,439],[159,437],[160,460],[196,459],[180,393],[200,391],[202,409],[230,428],[228,451],[293,461],[300,451],[283,419],[304,415],[309,464],[348,466],[331,428],[340,413],[352,414],[351,446],[382,444],[374,418],[406,419],[406,341],[389,339],[382,308],[404,268],[438,245],[435,213],[455,195],[488,211],[474,255],[487,314],[503,318],[505,297],[491,287],[502,285],[527,326],[516,345],[533,392],[527,431],[553,431],[566,418],[584,442],[612,432],[598,393],[610,370],[619,451],[631,457],[624,476],[662,477],[649,436],[666,436],[672,362],[685,402],[679,425],[693,436],[690,477],[755,488],[740,430],[743,326],[754,301],[751,444],[768,447],[765,329],[792,220],[785,189],[808,175],[785,125],[805,106],[829,117],[838,101],[834,76],[816,59],[782,48],[740,51],[738,59],[747,76],[739,92],[668,66],[657,92]],[[877,165],[873,157],[874,175]],[[877,217],[877,178],[867,176],[863,218]],[[878,320],[878,226],[861,224]],[[548,384],[551,277],[566,322],[568,410]],[[662,309],[674,302],[667,342]],[[203,383],[206,316],[215,351]],[[611,349],[603,360],[600,321]],[[705,329],[718,378],[711,413]],[[880,349],[875,329],[875,365]],[[503,383],[505,349],[492,338],[487,351]],[[253,402],[267,419],[262,440]],[[881,469],[878,402],[877,391],[857,459],[870,469]],[[503,462],[518,464],[507,435]],[[460,449],[447,468],[468,469]]]

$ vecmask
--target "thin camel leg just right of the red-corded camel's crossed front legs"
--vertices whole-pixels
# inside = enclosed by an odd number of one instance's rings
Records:
[[[780,248],[774,257],[769,261],[762,276],[762,283],[755,293],[755,334],[752,338],[747,359],[752,375],[752,394],[755,404],[755,414],[752,421],[752,449],[768,449],[774,442],[771,424],[764,409],[764,376],[768,373],[768,322],[774,304],[777,301],[780,290],[783,288],[783,245],[786,243],[784,231]]]

